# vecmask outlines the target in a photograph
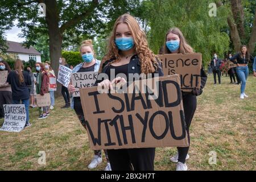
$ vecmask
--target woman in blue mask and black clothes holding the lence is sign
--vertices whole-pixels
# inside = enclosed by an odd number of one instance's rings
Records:
[[[187,41],[185,40],[182,32],[179,28],[171,28],[168,30],[166,34],[166,44],[164,44],[164,53],[193,53],[193,48],[189,46]],[[196,111],[197,105],[197,98],[203,92],[203,88],[207,81],[207,75],[204,71],[203,66],[201,67],[201,85],[200,89],[193,89],[191,93],[189,92],[182,92],[182,100],[183,100],[183,107],[184,107],[184,114],[185,114],[185,123],[187,125],[187,134],[188,134],[188,142],[190,145],[190,138],[189,138],[189,126],[191,125],[191,121],[193,119],[193,115]],[[187,164],[185,160],[189,158],[188,155],[189,147],[177,147],[177,154],[173,156],[170,160],[172,162],[176,162],[176,170],[177,171],[187,171]]]

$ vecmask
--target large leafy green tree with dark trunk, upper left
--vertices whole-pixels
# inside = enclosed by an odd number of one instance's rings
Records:
[[[36,35],[48,36],[49,55],[52,67],[57,72],[61,45],[69,32],[75,33],[74,36],[83,34],[88,37],[102,32],[107,34],[109,31],[105,30],[108,29],[108,22],[112,23],[112,18],[117,16],[113,7],[118,7],[119,13],[126,13],[131,10],[129,5],[136,5],[137,2],[139,0],[2,0],[0,1],[0,24],[2,26],[0,48],[5,51],[3,30],[9,30],[14,26],[13,20],[18,19],[18,27],[22,28],[27,47],[36,44]],[[39,3],[46,5],[46,17],[38,13]],[[57,90],[60,93],[60,89]]]

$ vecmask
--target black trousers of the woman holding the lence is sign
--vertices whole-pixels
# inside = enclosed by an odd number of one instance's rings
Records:
[[[197,99],[196,96],[191,94],[182,96],[183,99],[183,107],[184,107],[184,115],[185,115],[185,122],[187,126],[187,134],[188,134],[188,143],[190,146],[190,137],[189,137],[189,127],[191,125],[191,121],[196,111]],[[177,147],[179,153],[178,161],[181,163],[185,163],[186,156],[188,154],[188,147]]]

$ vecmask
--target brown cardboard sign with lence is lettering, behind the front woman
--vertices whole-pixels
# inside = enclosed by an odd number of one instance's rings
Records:
[[[162,61],[165,76],[179,74],[180,88],[184,92],[191,92],[193,88],[200,88],[200,70],[202,64],[201,53],[158,55]]]

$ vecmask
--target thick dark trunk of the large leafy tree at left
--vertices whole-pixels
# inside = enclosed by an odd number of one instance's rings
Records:
[[[55,75],[59,72],[59,59],[61,57],[62,35],[59,29],[59,11],[57,10],[56,1],[45,0],[46,3],[46,22],[49,35],[49,52],[52,69]],[[56,96],[61,95],[61,84],[57,83]]]

